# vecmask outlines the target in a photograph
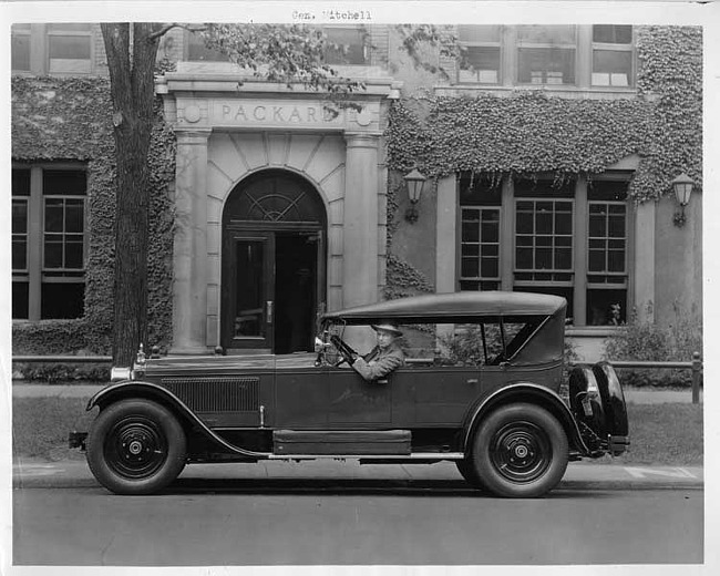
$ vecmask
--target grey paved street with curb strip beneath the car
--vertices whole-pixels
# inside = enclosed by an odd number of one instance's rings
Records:
[[[16,467],[14,564],[699,563],[702,470],[570,464],[548,497],[486,497],[452,464],[188,466],[114,496],[84,462]],[[538,537],[542,535],[542,537]]]

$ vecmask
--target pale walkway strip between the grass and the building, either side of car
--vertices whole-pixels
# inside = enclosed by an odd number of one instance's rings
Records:
[[[102,388],[101,384],[16,384],[13,382],[12,395],[13,398],[90,398]],[[625,399],[632,404],[690,403],[692,391],[635,388],[625,390]],[[700,402],[702,403],[702,390],[700,390]]]

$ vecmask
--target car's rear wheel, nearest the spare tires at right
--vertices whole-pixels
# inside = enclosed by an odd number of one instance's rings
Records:
[[[538,497],[567,469],[565,430],[547,410],[527,403],[501,407],[480,424],[469,462],[479,483],[506,497]]]

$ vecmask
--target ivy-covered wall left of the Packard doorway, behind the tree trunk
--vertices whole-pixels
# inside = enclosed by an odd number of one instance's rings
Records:
[[[151,144],[148,250],[148,340],[167,347],[172,338],[172,259],[175,137],[157,120]],[[76,321],[16,322],[13,352],[109,353],[113,321],[115,161],[107,79],[12,79],[12,160],[79,161],[88,169],[85,315]],[[59,330],[58,325],[63,329]],[[75,336],[68,337],[68,330]],[[55,342],[53,335],[64,335]],[[68,343],[63,349],[63,343]],[[50,353],[50,352],[49,352]]]

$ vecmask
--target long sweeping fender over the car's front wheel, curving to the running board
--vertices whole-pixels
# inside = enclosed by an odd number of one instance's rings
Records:
[[[125,400],[126,398],[145,398],[163,404],[178,416],[181,421],[187,422],[196,428],[205,438],[235,454],[241,454],[253,459],[266,459],[269,455],[265,452],[253,452],[230,444],[213,432],[179,398],[169,390],[153,384],[152,382],[125,381],[111,384],[93,395],[88,401],[85,410],[92,410],[95,407],[100,407],[103,410],[105,407]]]

